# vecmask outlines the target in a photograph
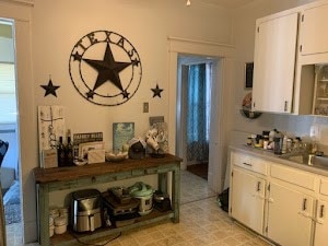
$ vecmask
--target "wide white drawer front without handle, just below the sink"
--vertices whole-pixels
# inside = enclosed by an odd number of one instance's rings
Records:
[[[303,188],[315,190],[315,175],[280,165],[271,165],[270,175]]]

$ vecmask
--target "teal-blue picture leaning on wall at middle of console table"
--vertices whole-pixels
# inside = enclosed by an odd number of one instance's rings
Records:
[[[134,122],[113,124],[113,152],[119,152],[129,140],[134,138]]]

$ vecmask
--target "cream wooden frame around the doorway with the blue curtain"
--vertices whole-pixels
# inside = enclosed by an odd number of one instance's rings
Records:
[[[168,37],[168,141],[169,152],[177,153],[179,143],[177,136],[177,89],[178,89],[178,56],[195,55],[210,56],[218,58],[218,66],[221,70],[216,78],[218,118],[211,118],[212,122],[218,122],[216,130],[212,132],[210,140],[209,156],[209,187],[215,192],[222,191],[227,163],[227,145],[232,126],[232,96],[231,84],[235,48],[232,45],[191,40],[177,37]],[[214,102],[214,101],[213,101]],[[213,104],[213,103],[212,103]],[[223,120],[224,116],[224,120]]]

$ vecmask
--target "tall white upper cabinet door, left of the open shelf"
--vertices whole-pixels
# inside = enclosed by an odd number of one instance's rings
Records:
[[[253,110],[291,113],[298,14],[261,22],[256,30]]]

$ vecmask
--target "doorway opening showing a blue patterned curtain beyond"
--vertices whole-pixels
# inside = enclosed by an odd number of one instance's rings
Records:
[[[178,155],[186,169],[206,180],[209,172],[211,87],[216,59],[178,56]]]

